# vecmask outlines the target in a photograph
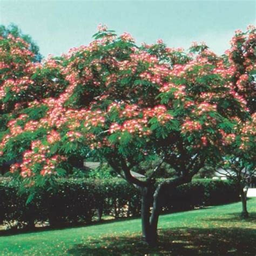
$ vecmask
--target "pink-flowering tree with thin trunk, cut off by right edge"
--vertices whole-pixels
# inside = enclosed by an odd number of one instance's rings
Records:
[[[233,69],[231,88],[246,104],[249,120],[234,119],[233,133],[223,134],[227,145],[224,158],[219,166],[226,170],[227,178],[233,179],[240,191],[242,217],[248,217],[246,193],[251,178],[255,174],[255,26],[248,26],[247,31],[235,31],[231,40],[232,48],[226,51]]]

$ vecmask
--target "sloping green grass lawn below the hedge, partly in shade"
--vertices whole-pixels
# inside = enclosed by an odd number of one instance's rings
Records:
[[[140,219],[44,230],[0,233],[0,255],[256,255],[256,198],[240,219],[241,204],[161,215],[159,245],[140,241]]]

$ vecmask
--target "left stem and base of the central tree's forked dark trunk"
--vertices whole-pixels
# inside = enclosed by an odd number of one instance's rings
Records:
[[[152,208],[152,215],[150,214],[150,208],[153,200],[153,191],[151,187],[143,187],[141,188],[141,192],[142,192],[142,239],[150,246],[156,246],[158,217],[157,217],[157,211],[154,210],[154,207]],[[154,215],[154,218],[152,219],[153,215]]]

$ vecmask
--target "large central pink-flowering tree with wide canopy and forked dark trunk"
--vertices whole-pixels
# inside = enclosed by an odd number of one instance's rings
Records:
[[[18,112],[9,120],[2,159],[22,156],[11,172],[30,188],[29,200],[37,187],[71,171],[69,159],[106,161],[140,190],[143,239],[156,245],[164,192],[190,182],[206,159],[220,158],[223,132],[232,131],[234,117],[246,119],[245,103],[230,87],[233,70],[205,45],[193,45],[188,54],[161,41],[139,47],[128,33],[117,37],[105,26],[94,37],[46,61],[59,63],[63,80],[56,87],[62,91],[25,108],[44,107],[39,118]],[[146,179],[132,176],[156,157],[161,160]],[[163,163],[173,177],[156,187]]]

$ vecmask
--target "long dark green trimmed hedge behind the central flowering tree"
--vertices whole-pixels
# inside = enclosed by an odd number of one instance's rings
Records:
[[[157,183],[163,179],[157,180]],[[43,187],[28,205],[27,195],[18,194],[17,185],[0,180],[0,224],[9,227],[48,223],[90,223],[102,214],[114,218],[140,214],[139,191],[120,178],[60,179],[54,188]],[[202,179],[184,184],[163,195],[163,211],[184,211],[194,207],[230,203],[239,194],[230,181]]]

